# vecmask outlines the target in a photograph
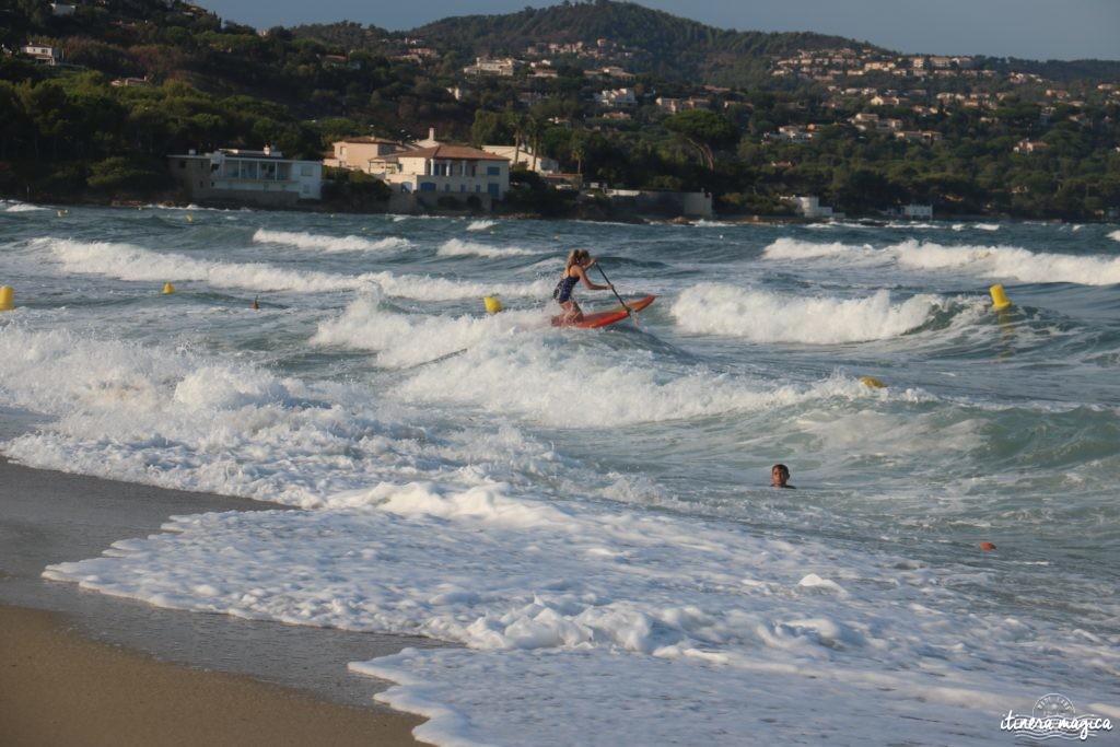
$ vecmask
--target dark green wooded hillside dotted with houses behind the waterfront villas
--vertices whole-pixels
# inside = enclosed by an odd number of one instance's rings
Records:
[[[921,203],[1093,220],[1120,206],[1114,60],[902,55],[610,0],[407,32],[254,29],[179,0],[72,2],[0,10],[3,196],[174,199],[169,153],[271,144],[321,158],[344,137],[435,128],[474,146],[516,139],[587,184],[707,190],[730,215],[790,214],[788,195],[865,215]],[[329,209],[382,209],[374,177],[328,176]],[[513,181],[502,209],[608,211],[534,174]]]

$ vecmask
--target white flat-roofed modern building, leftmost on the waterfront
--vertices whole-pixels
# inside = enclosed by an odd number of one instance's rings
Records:
[[[323,162],[284,158],[273,148],[221,148],[168,156],[171,176],[193,202],[295,207],[323,196]]]

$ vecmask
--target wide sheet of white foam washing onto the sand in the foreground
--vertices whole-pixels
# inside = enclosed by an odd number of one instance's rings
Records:
[[[976,608],[956,588],[962,567],[501,483],[381,484],[319,511],[177,516],[165,530],[44,576],[175,609],[456,642],[351,665],[395,682],[380,700],[430,717],[417,736],[436,744],[582,744],[594,729],[730,745],[749,728],[857,745],[868,720],[915,708],[925,739],[983,744],[1024,661],[1098,661],[1094,684],[1117,664],[1101,641]],[[1000,643],[1020,655],[978,674],[974,652]],[[931,657],[936,678],[913,666]],[[544,711],[511,713],[521,699]],[[772,719],[745,727],[743,703]]]

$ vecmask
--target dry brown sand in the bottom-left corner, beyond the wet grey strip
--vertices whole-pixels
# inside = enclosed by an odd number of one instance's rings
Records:
[[[11,747],[419,744],[420,718],[158,662],[57,614],[0,605],[0,735]]]

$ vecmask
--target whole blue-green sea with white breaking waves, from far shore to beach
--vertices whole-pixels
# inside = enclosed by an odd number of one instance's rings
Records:
[[[581,246],[659,297],[637,323],[549,325]],[[355,664],[423,738],[1011,744],[1048,692],[1120,716],[1116,225],[7,203],[0,284],[0,403],[52,419],[3,454],[305,508],[48,577],[464,644]]]

